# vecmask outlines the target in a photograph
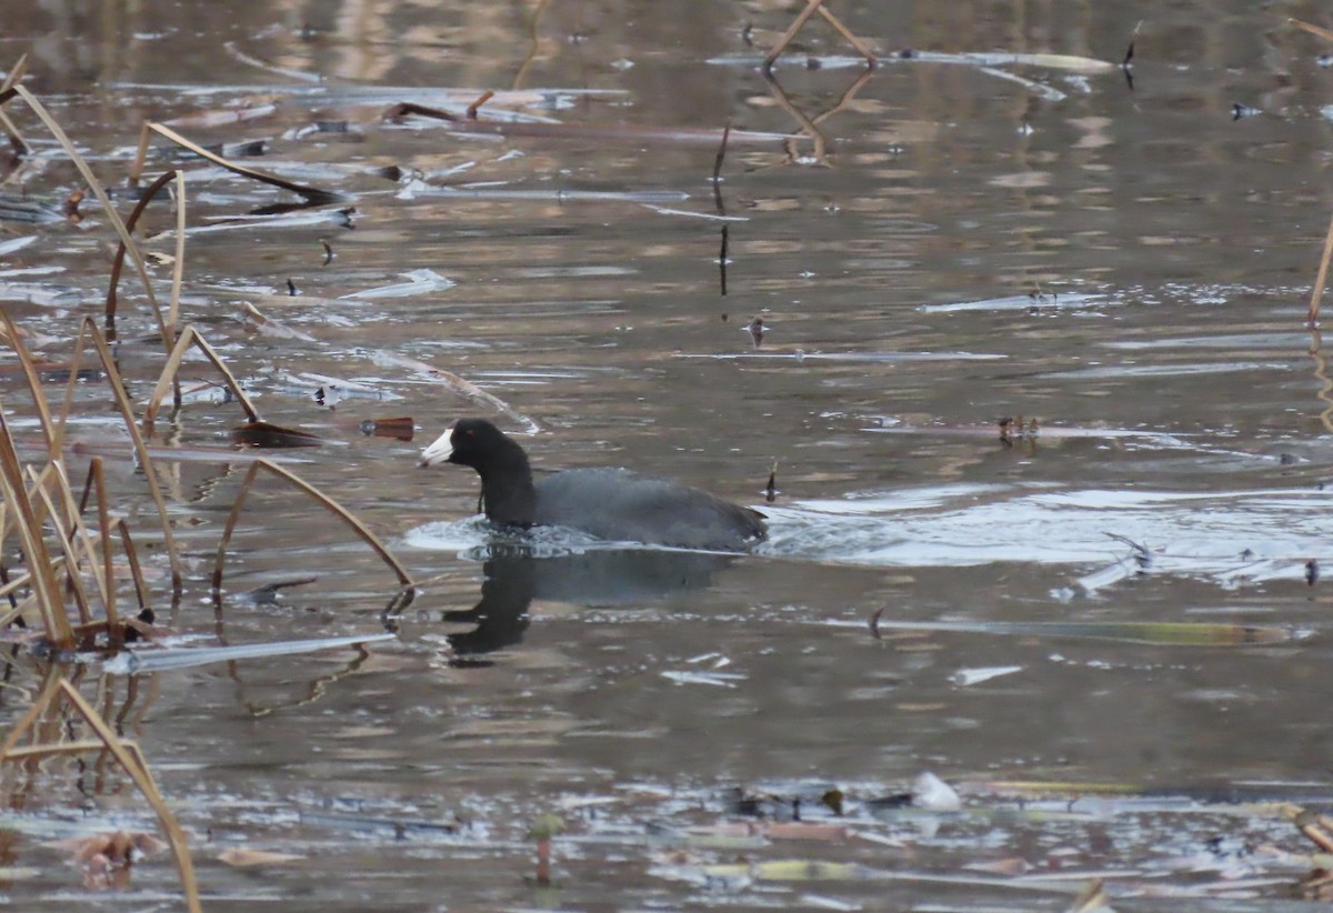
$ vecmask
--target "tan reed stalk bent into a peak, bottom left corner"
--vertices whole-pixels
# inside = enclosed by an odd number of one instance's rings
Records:
[[[176,816],[172,814],[171,809],[167,808],[165,800],[163,800],[161,792],[157,789],[157,784],[153,781],[152,773],[148,770],[148,764],[144,761],[143,752],[132,741],[121,740],[112,732],[107,721],[103,720],[101,714],[84,700],[84,696],[79,693],[69,681],[60,674],[52,674],[47,684],[43,686],[41,693],[33,701],[32,706],[28,708],[23,718],[15,724],[13,729],[5,737],[4,744],[0,745],[0,762],[7,760],[13,760],[20,757],[20,754],[11,754],[19,742],[29,729],[35,730],[39,717],[44,713],[59,710],[59,700],[64,698],[73,708],[73,710],[83,717],[88,728],[93,730],[97,736],[97,741],[93,742],[101,750],[111,752],[116,762],[120,764],[121,769],[133,781],[135,786],[143,794],[144,800],[157,814],[157,822],[167,832],[167,841],[171,844],[172,854],[176,857],[176,868],[180,872],[181,888],[185,892],[185,906],[191,913],[203,913],[203,904],[199,898],[199,885],[195,880],[195,864],[189,857],[189,841],[185,837],[185,832],[181,829],[180,824],[176,821]],[[81,740],[83,741],[83,740]],[[91,740],[89,740],[91,741]],[[24,754],[32,754],[32,752],[25,752]]]

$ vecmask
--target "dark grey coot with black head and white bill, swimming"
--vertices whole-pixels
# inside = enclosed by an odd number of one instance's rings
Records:
[[[764,514],[697,488],[628,469],[568,469],[532,481],[528,455],[484,419],[461,419],[421,452],[481,476],[487,518],[501,526],[569,526],[597,538],[742,552],[768,536]]]

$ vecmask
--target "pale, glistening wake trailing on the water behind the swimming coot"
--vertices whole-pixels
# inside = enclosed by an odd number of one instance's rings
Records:
[[[1232,578],[1240,566],[1264,565],[1256,576],[1298,578],[1333,538],[1328,492],[998,488],[769,506],[760,552],[894,566],[1097,564],[1124,557],[1118,536],[1149,549],[1160,572]]]

